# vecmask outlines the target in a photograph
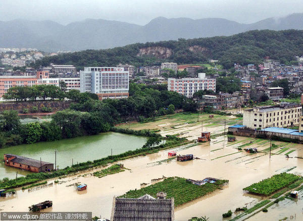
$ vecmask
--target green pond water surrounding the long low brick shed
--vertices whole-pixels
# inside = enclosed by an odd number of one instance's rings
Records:
[[[94,136],[78,137],[54,142],[39,142],[0,149],[0,157],[4,154],[16,154],[46,162],[55,163],[55,149],[57,149],[57,165],[59,168],[96,160],[113,153],[120,154],[128,150],[141,148],[146,142],[146,138],[133,135],[106,132]],[[0,179],[5,177],[14,178],[16,172],[19,175],[26,175],[29,171],[5,166],[0,162]]]

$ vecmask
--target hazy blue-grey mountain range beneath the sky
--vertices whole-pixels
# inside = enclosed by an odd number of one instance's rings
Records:
[[[86,19],[61,25],[53,21],[0,21],[0,48],[36,48],[45,52],[109,49],[136,42],[230,36],[249,30],[303,29],[303,13],[241,24],[221,18],[193,20],[158,17],[141,26],[120,21]]]

